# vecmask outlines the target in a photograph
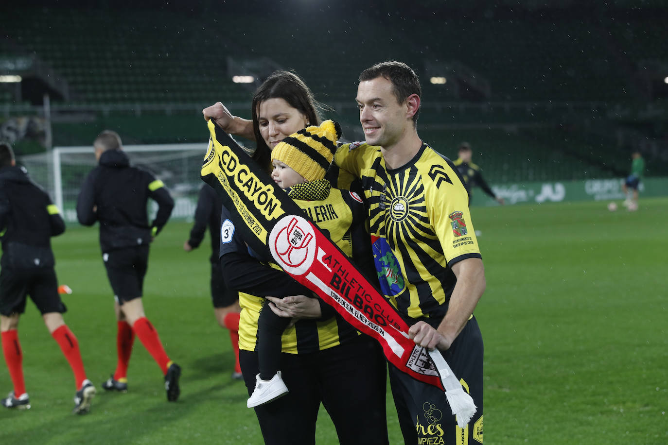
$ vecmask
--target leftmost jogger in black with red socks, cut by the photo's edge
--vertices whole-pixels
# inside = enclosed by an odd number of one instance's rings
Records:
[[[67,310],[58,295],[51,236],[65,232],[65,221],[49,195],[15,165],[14,153],[0,144],[0,330],[5,362],[14,390],[1,403],[6,408],[30,408],[23,380],[19,318],[29,295],[44,324],[74,373],[75,414],[88,412],[95,387],[86,378],[79,343],[63,320]]]

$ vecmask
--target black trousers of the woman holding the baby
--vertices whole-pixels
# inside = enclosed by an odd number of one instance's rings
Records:
[[[239,351],[248,395],[255,389],[257,352]],[[388,444],[385,358],[367,336],[308,354],[281,354],[289,393],[255,408],[265,444],[315,444],[320,403],[342,445]]]

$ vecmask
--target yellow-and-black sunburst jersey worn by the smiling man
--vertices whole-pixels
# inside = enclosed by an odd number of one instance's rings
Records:
[[[362,142],[341,145],[334,161],[361,179],[383,294],[410,318],[442,318],[452,265],[482,258],[452,161],[423,143],[406,165],[387,169],[380,147]]]

